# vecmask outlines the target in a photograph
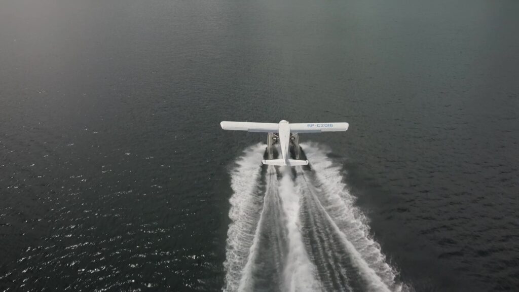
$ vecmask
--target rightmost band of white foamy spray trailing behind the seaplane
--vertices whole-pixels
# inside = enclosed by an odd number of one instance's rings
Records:
[[[406,285],[395,280],[398,273],[389,266],[380,245],[370,236],[366,217],[354,206],[356,198],[342,182],[341,168],[327,157],[330,152],[316,143],[303,144],[302,148],[313,171],[304,172],[301,177],[306,182],[301,184],[306,184],[310,197],[342,244],[359,280],[370,291],[408,290]]]

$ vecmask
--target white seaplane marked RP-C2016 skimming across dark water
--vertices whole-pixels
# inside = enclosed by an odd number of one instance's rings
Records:
[[[263,160],[266,165],[297,166],[307,165],[308,160],[299,160],[301,148],[299,147],[299,133],[320,133],[348,130],[348,123],[298,123],[290,124],[283,120],[276,123],[252,123],[252,122],[221,122],[224,130],[264,132],[267,136],[268,160]],[[279,146],[280,159],[274,159],[274,149]],[[290,159],[291,153],[295,159]]]

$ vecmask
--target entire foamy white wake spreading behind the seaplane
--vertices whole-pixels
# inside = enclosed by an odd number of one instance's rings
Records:
[[[260,143],[231,171],[225,291],[408,291],[367,219],[317,143],[302,144],[311,169],[259,166]],[[281,179],[278,179],[278,171]]]

